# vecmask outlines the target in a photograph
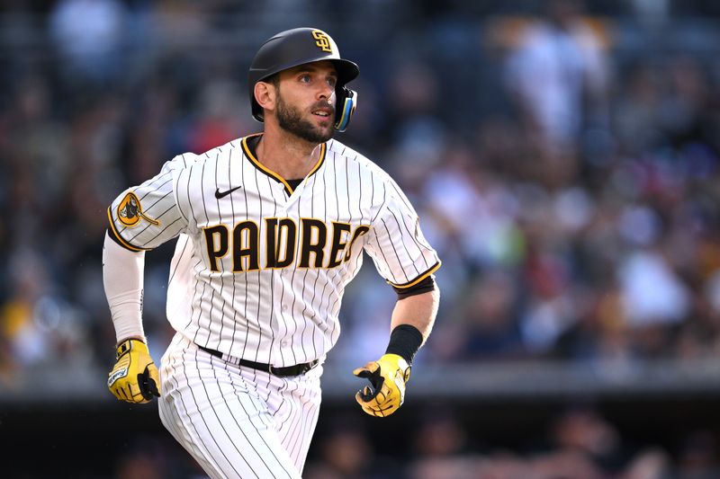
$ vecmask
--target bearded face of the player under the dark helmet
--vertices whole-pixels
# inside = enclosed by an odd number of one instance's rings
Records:
[[[328,60],[281,72],[275,109],[280,128],[311,143],[328,141],[335,132],[337,82]]]

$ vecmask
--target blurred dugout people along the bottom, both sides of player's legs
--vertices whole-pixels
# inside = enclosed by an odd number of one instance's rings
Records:
[[[558,411],[527,437],[507,443],[479,434],[446,405],[420,412],[401,442],[378,439],[356,415],[338,415],[319,431],[307,479],[715,479],[711,430],[657,442],[623,434],[591,405]],[[507,439],[504,438],[504,439]],[[644,439],[644,440],[638,440]],[[402,445],[400,447],[399,445]],[[200,479],[179,448],[139,440],[117,457],[118,479]]]

